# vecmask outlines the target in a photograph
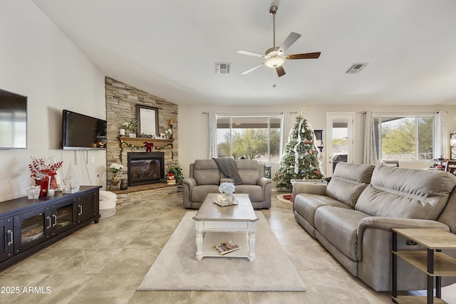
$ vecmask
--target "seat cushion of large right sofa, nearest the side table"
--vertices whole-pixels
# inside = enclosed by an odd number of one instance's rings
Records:
[[[321,206],[315,212],[315,228],[348,258],[358,261],[358,224],[361,219],[368,216],[353,209]]]

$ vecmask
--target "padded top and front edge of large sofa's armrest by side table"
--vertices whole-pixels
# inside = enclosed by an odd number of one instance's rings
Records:
[[[363,260],[363,233],[364,229],[382,229],[391,231],[393,228],[438,228],[445,231],[450,231],[450,228],[440,223],[440,221],[432,221],[429,219],[400,219],[384,216],[368,216],[358,224],[358,261]]]

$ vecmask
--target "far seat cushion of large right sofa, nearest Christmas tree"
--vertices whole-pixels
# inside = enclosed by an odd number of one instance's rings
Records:
[[[308,221],[313,227],[315,227],[315,211],[321,206],[338,206],[350,209],[346,204],[343,204],[336,199],[331,199],[331,197],[307,193],[296,195],[293,204],[294,211]]]

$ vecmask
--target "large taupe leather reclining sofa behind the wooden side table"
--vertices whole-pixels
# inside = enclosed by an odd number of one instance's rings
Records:
[[[391,290],[391,229],[456,233],[455,186],[448,172],[340,162],[327,185],[294,183],[293,211],[353,276],[385,291]],[[398,236],[398,249],[423,247]],[[442,285],[455,282],[442,278]],[[425,274],[398,258],[398,290],[425,288]]]

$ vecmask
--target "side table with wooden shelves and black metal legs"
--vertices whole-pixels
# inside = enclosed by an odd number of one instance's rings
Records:
[[[398,234],[419,243],[425,250],[398,251]],[[392,299],[394,303],[446,303],[442,296],[442,276],[456,276],[456,258],[442,249],[456,250],[456,234],[442,229],[393,229],[392,255]],[[398,257],[423,271],[427,275],[427,296],[398,296]],[[433,293],[435,278],[435,297]]]

